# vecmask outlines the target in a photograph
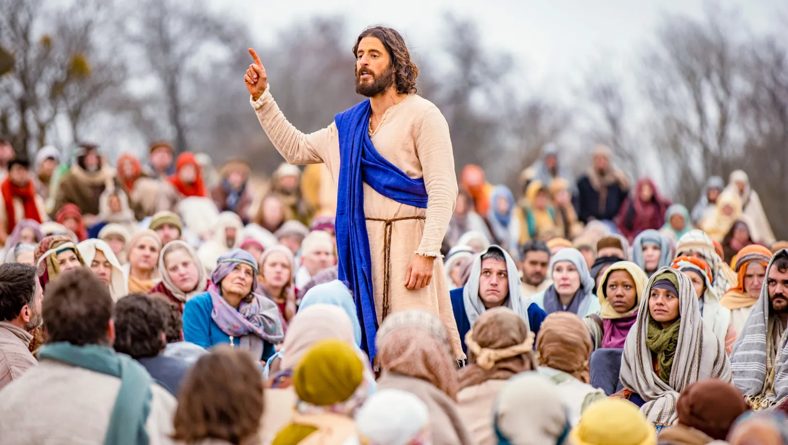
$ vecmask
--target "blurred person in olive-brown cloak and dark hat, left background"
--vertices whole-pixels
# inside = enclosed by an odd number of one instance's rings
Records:
[[[99,147],[82,144],[76,150],[76,164],[63,176],[54,202],[57,212],[65,204],[75,204],[82,210],[87,227],[95,223],[99,214],[99,197],[107,188],[116,187],[115,172],[99,155]]]

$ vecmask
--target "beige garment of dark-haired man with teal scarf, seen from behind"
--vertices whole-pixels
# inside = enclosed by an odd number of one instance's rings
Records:
[[[0,443],[104,443],[121,379],[42,360],[2,390]],[[146,421],[150,445],[173,443],[177,402],[158,384]]]

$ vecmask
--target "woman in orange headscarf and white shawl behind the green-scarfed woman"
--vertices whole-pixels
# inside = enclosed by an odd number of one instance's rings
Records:
[[[725,352],[730,355],[734,349],[737,334],[734,328],[730,310],[719,302],[719,296],[712,287],[712,269],[700,258],[678,257],[673,260],[673,269],[678,269],[689,276],[692,281],[701,317],[709,328],[725,345]]]

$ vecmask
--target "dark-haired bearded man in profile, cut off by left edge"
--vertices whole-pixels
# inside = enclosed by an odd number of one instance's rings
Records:
[[[0,265],[0,390],[38,364],[28,345],[43,321],[42,299],[35,267]]]

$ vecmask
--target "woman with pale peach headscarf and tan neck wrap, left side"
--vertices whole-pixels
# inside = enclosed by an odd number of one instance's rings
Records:
[[[128,263],[124,272],[128,276],[128,291],[132,294],[147,294],[156,285],[159,276],[156,270],[162,239],[152,230],[136,232],[128,243]]]

